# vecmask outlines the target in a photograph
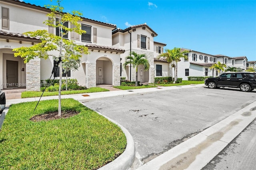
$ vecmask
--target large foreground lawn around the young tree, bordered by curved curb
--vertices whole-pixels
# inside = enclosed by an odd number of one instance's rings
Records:
[[[122,130],[74,99],[62,110],[79,111],[68,119],[33,122],[30,118],[58,110],[58,100],[10,106],[0,129],[0,169],[97,169],[126,147]]]

